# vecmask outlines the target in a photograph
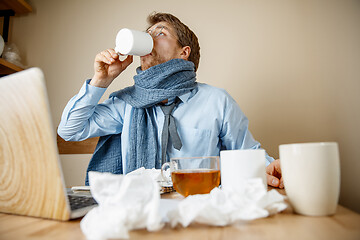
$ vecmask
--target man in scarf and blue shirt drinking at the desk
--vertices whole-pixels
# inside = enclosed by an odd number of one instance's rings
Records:
[[[222,149],[257,149],[248,119],[224,90],[196,82],[196,35],[171,14],[153,13],[154,48],[142,56],[132,87],[98,104],[133,61],[113,49],[96,55],[94,76],[65,107],[58,134],[67,141],[101,136],[88,171],[128,173],[160,168],[172,157],[218,156]],[[279,161],[266,156],[268,184],[283,187]],[[88,179],[86,179],[88,184]]]

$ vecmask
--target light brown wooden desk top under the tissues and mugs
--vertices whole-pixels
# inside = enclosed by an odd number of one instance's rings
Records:
[[[166,197],[165,197],[166,196]],[[177,197],[176,193],[164,195]],[[32,217],[0,214],[0,239],[86,239],[80,220],[57,222]],[[191,225],[188,228],[170,226],[159,232],[137,230],[130,239],[360,239],[360,215],[338,206],[330,217],[306,217],[293,214],[291,209],[272,217],[239,223],[228,227]]]

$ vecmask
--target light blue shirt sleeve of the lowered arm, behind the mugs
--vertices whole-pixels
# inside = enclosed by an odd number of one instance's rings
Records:
[[[241,111],[236,101],[228,93],[226,95],[224,118],[220,133],[223,148],[228,150],[261,148],[260,143],[254,139],[248,128],[248,118]],[[266,151],[265,156],[266,165],[274,161],[274,158],[270,157]]]

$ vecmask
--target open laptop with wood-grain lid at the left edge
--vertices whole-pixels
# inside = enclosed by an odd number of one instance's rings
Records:
[[[65,188],[42,71],[0,78],[0,212],[66,221],[94,206]]]

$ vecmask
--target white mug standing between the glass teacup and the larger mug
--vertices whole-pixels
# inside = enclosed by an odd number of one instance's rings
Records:
[[[246,180],[261,178],[266,184],[266,157],[264,149],[220,151],[221,187],[241,190]]]

